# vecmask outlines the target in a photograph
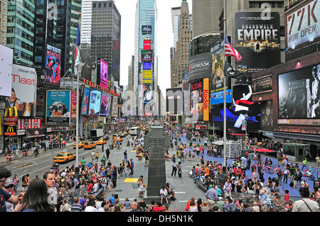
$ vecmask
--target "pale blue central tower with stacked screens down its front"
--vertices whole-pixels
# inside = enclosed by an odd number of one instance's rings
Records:
[[[151,31],[144,33],[143,26],[149,26]],[[134,115],[144,115],[144,109],[148,106],[148,114],[158,115],[155,111],[157,106],[156,87],[158,85],[158,60],[157,60],[157,9],[155,0],[138,0],[135,14],[135,28],[134,28]],[[142,50],[144,50],[144,40],[149,38],[151,40],[151,50],[153,52],[153,60],[151,66],[152,81],[148,86],[144,86],[142,82]],[[144,94],[151,91],[151,98],[144,101]],[[147,103],[146,103],[147,102]]]

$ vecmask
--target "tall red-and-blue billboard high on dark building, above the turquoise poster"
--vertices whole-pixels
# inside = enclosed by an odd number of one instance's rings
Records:
[[[61,50],[47,45],[46,53],[46,84],[60,86]]]

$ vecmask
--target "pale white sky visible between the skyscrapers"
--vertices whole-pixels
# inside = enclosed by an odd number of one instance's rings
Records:
[[[165,94],[170,88],[170,47],[174,46],[172,33],[171,8],[180,7],[182,0],[156,0],[158,10],[158,85]],[[137,0],[114,0],[121,15],[121,60],[120,85],[128,84],[128,67],[134,55],[134,15]],[[188,0],[189,11],[192,11],[192,0]]]

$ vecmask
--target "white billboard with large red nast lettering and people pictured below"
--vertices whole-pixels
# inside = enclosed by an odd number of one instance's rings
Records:
[[[18,116],[36,116],[37,74],[36,69],[14,64],[12,67],[11,96],[6,107],[16,106]]]

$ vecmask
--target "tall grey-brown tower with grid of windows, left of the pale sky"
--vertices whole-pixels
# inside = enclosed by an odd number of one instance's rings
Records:
[[[109,65],[110,77],[120,81],[121,16],[114,1],[92,1],[92,61],[102,58]]]

